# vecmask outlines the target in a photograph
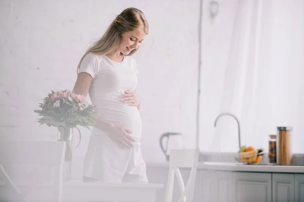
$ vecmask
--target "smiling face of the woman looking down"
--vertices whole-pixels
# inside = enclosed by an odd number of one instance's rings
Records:
[[[137,49],[145,36],[142,28],[136,28],[131,32],[126,32],[122,35],[122,40],[119,44],[120,52],[128,55],[133,49]]]

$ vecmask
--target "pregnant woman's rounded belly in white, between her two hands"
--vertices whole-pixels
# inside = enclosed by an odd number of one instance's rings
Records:
[[[140,136],[142,122],[136,107],[124,103],[107,103],[97,106],[98,116],[110,123],[121,124],[132,132],[132,136]]]

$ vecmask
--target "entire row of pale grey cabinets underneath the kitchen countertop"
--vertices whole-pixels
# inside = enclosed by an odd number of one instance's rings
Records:
[[[163,202],[169,167],[147,166],[149,182],[163,183],[157,201]],[[180,169],[184,182],[190,169]],[[180,196],[175,180],[173,201]],[[304,174],[213,171],[198,169],[194,202],[304,202]]]

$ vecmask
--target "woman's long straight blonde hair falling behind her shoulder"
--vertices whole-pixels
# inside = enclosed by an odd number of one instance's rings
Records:
[[[136,8],[125,9],[112,21],[103,36],[87,49],[78,64],[77,73],[87,54],[106,55],[112,50],[112,48],[115,48],[120,43],[124,33],[133,31],[141,26],[143,27],[144,32],[148,34],[148,23],[143,12]],[[129,53],[129,56],[132,56],[135,52],[136,49],[133,49]]]

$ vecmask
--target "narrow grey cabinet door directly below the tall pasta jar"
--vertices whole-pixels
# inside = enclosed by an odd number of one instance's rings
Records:
[[[294,174],[273,173],[273,202],[294,201]]]

